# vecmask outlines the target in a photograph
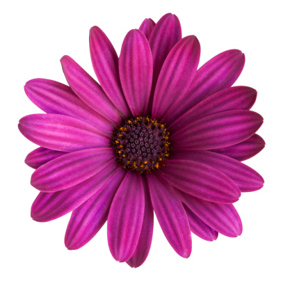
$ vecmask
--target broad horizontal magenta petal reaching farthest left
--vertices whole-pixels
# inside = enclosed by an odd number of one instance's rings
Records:
[[[57,114],[32,114],[19,120],[19,131],[42,147],[72,152],[109,146],[109,136],[81,120]]]

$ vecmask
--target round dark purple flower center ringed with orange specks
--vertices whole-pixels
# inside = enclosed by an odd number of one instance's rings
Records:
[[[165,125],[150,117],[126,120],[113,133],[112,144],[124,168],[140,173],[164,166],[169,156],[169,132]]]

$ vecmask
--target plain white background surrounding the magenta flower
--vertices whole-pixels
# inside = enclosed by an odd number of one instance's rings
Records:
[[[287,7],[286,1],[4,1],[1,22],[1,276],[6,287],[287,287]],[[246,66],[236,85],[256,88],[254,111],[264,116],[266,148],[246,161],[264,188],[242,195],[237,239],[206,242],[193,235],[189,259],[170,248],[155,224],[145,264],[115,262],[106,225],[80,250],[64,246],[70,215],[49,223],[30,218],[38,191],[24,158],[36,146],[17,130],[39,113],[24,94],[29,79],[66,83],[60,58],[68,54],[94,75],[88,33],[97,25],[118,51],[144,18],[175,13],[183,35],[200,40],[200,65],[227,49],[241,49]]]

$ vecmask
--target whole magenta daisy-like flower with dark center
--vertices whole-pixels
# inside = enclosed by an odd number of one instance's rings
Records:
[[[191,232],[207,241],[237,237],[233,202],[264,180],[241,163],[264,148],[250,111],[256,90],[234,86],[244,54],[224,51],[198,69],[200,43],[182,38],[179,19],[145,19],[127,33],[120,57],[97,26],[90,54],[99,83],[72,58],[61,59],[69,86],[33,79],[26,95],[47,114],[19,130],[40,145],[25,159],[40,190],[31,217],[70,211],[65,246],[78,249],[107,221],[113,257],[137,267],[152,242],[154,212],[174,250],[191,255]]]

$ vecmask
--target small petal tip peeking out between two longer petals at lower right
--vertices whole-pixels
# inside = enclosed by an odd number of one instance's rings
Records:
[[[186,205],[183,206],[187,214],[191,232],[206,241],[214,241],[218,238],[217,231],[203,222]]]

